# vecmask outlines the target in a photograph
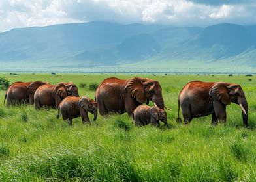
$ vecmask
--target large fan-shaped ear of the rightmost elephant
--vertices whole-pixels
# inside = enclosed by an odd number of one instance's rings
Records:
[[[212,98],[218,101],[221,101],[225,105],[230,105],[231,98],[229,96],[229,90],[227,86],[228,86],[228,83],[217,82],[210,89],[209,95],[212,96]]]

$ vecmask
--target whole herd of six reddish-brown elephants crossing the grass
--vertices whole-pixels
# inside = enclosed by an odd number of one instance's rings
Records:
[[[161,85],[158,81],[141,77],[126,80],[116,77],[104,79],[95,92],[95,100],[87,96],[80,97],[78,87],[72,82],[51,85],[42,81],[19,81],[7,88],[4,104],[6,100],[7,106],[25,103],[33,104],[37,110],[55,108],[58,110],[57,118],[61,114],[63,120],[71,125],[72,119],[77,117],[81,117],[82,122],[90,122],[88,112],[96,120],[98,110],[101,115],[127,112],[137,126],[149,123],[159,126],[159,121],[167,125],[165,109],[168,107],[164,103]],[[153,107],[148,106],[150,101],[153,102]],[[191,81],[182,88],[178,96],[176,121],[182,121],[179,116],[181,107],[185,124],[193,118],[210,114],[213,125],[218,121],[226,122],[226,106],[231,103],[240,105],[243,124],[248,126],[248,103],[240,85]]]

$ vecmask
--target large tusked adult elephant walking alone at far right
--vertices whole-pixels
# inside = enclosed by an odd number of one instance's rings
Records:
[[[191,81],[182,88],[178,98],[178,118],[180,107],[184,123],[193,118],[212,114],[212,125],[218,120],[226,122],[226,106],[231,103],[239,104],[242,109],[244,126],[248,126],[248,104],[242,87],[235,83]]]

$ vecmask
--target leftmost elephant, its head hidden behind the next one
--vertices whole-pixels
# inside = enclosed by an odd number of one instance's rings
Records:
[[[19,104],[33,104],[34,94],[39,86],[45,85],[47,82],[31,81],[22,82],[17,81],[12,83],[5,92],[5,100],[7,99],[7,105],[19,105]],[[5,105],[5,100],[3,101]]]

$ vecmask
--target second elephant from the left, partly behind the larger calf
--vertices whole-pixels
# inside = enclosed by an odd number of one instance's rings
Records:
[[[42,107],[52,107],[57,109],[59,103],[61,103],[67,96],[79,97],[78,88],[72,82],[61,82],[57,85],[42,85],[37,88],[37,91],[35,92],[35,109],[39,110]]]

